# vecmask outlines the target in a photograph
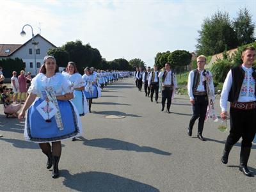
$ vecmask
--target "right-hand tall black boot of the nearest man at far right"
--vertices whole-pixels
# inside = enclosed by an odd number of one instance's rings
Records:
[[[248,170],[247,163],[250,156],[251,148],[250,147],[241,147],[240,152],[240,165],[239,170],[248,177],[253,177],[253,174]]]

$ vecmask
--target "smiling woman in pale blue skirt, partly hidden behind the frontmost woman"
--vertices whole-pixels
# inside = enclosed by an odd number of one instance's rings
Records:
[[[62,72],[62,74],[71,82],[74,90],[74,99],[72,99],[72,102],[75,104],[79,115],[84,116],[84,114],[88,113],[89,109],[86,97],[83,93],[84,79],[77,71],[76,63],[72,61],[68,62],[66,72]]]

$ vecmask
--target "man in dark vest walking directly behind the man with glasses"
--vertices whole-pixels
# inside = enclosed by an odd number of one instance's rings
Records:
[[[176,76],[173,72],[173,70],[171,70],[171,66],[170,63],[165,63],[165,69],[166,71],[164,72],[160,72],[159,73],[159,78],[162,78],[162,110],[164,111],[164,105],[165,105],[165,101],[167,99],[167,113],[170,113],[170,107],[172,104],[172,93],[173,88],[177,87],[177,80],[176,80]]]

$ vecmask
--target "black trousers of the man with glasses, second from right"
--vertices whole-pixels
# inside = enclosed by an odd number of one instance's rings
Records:
[[[195,124],[196,119],[198,120],[198,134],[202,134],[204,129],[204,120],[208,106],[208,98],[207,95],[194,95],[195,104],[193,104],[193,115],[189,122],[189,129],[193,129],[193,125]]]

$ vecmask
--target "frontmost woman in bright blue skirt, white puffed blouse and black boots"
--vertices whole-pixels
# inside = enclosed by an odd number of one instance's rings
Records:
[[[44,58],[44,65],[31,81],[28,93],[28,99],[19,114],[19,119],[24,118],[28,109],[25,139],[39,143],[47,156],[47,168],[53,164],[52,178],[57,178],[61,140],[81,134],[82,125],[76,106],[70,101],[74,98],[71,84],[58,72],[54,57]],[[49,142],[52,142],[52,146]]]

